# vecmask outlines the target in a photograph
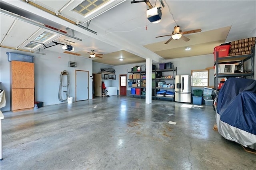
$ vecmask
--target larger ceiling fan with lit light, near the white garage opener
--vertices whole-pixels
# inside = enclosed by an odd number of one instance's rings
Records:
[[[169,43],[172,39],[178,40],[180,38],[182,40],[184,40],[185,42],[188,42],[190,39],[185,37],[185,36],[183,36],[183,34],[192,34],[192,33],[201,32],[201,31],[202,31],[201,29],[197,29],[197,30],[190,30],[190,31],[182,32],[182,30],[180,30],[180,26],[175,26],[174,27],[174,31],[172,32],[172,34],[165,35],[165,36],[172,36],[172,37],[167,42],[165,42],[164,44]],[[158,36],[156,38],[165,37],[165,36]]]

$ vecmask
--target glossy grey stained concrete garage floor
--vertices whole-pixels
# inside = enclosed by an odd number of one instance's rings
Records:
[[[0,169],[256,168],[256,154],[212,129],[211,106],[188,106],[110,96],[5,112]]]

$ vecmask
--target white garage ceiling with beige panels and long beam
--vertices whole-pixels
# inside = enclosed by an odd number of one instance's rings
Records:
[[[72,9],[82,0],[32,0],[36,5],[47,8],[53,13],[59,11],[59,16],[68,18],[74,23],[87,27],[86,21],[93,18],[93,14],[84,18],[73,12]],[[61,36],[55,42],[70,43],[74,46],[74,53],[88,54],[91,49],[96,53],[104,54],[102,59],[93,60],[110,65],[123,65],[127,63],[143,62],[152,58],[154,62],[163,63],[164,59],[188,57],[194,55],[212,54],[215,46],[224,42],[231,42],[256,36],[256,1],[170,1],[165,0],[162,10],[162,21],[152,24],[146,18],[147,5],[144,2],[131,4],[130,0],[113,0],[103,14],[93,18],[88,29],[97,32],[93,34],[49,14],[22,0],[1,0],[1,12],[4,10],[14,12],[20,16],[30,18],[36,22],[66,31],[82,41]],[[159,0],[150,3],[159,6]],[[63,7],[68,4],[66,8]],[[63,9],[63,10],[62,10]],[[103,11],[103,10],[102,10]],[[155,38],[156,36],[171,34],[176,23],[182,31],[202,29],[200,33],[186,34],[190,41],[172,40],[164,44],[170,36]],[[40,27],[17,20],[11,32],[6,36],[14,18],[0,14],[1,17],[1,46],[17,48],[26,41]],[[84,23],[84,24],[82,24]],[[6,39],[3,41],[4,37]],[[46,46],[54,45],[48,43]],[[191,51],[185,51],[190,46]],[[19,47],[22,49],[21,47]],[[42,46],[44,48],[44,46]],[[46,48],[46,50],[63,53],[59,46]],[[36,52],[38,52],[36,50]],[[83,55],[83,57],[89,57]],[[124,61],[119,61],[120,57]]]

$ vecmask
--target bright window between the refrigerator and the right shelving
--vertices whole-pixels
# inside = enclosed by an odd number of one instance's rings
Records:
[[[192,87],[209,86],[209,70],[191,70]]]

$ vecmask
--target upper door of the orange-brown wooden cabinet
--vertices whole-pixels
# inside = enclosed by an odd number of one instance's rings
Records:
[[[34,63],[11,61],[10,69],[12,89],[34,88]]]

